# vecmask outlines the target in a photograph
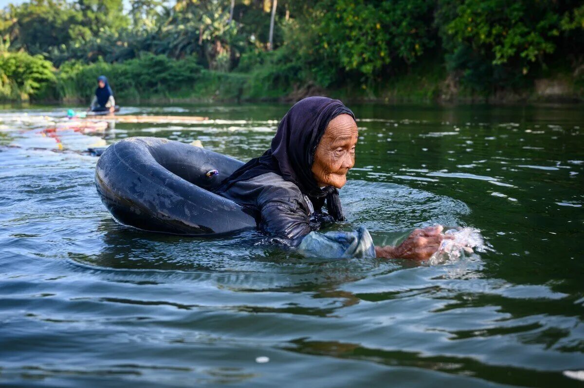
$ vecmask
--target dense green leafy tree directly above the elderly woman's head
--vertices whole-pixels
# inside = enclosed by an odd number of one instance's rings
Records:
[[[355,77],[378,76],[412,64],[433,46],[433,3],[426,0],[324,0],[287,34],[288,44],[322,86]]]

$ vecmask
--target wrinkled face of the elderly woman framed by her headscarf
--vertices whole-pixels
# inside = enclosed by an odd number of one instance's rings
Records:
[[[355,146],[359,132],[350,115],[338,115],[329,122],[314,153],[312,174],[318,186],[342,188],[347,171],[355,164]]]

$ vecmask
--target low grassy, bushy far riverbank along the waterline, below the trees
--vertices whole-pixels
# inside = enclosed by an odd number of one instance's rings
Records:
[[[20,55],[20,54],[19,54]],[[448,72],[442,61],[425,59],[383,76],[349,77],[321,86],[312,73],[296,65],[256,63],[232,72],[204,69],[195,58],[171,59],[144,54],[110,64],[70,62],[51,70],[40,57],[26,57],[32,65],[26,77],[11,75],[12,83],[0,89],[4,101],[88,104],[95,79],[106,75],[116,100],[128,104],[293,102],[314,95],[340,98],[349,103],[575,103],[584,101],[584,70],[540,72],[507,87],[471,89],[464,73]],[[22,59],[5,55],[5,59]],[[23,86],[29,86],[26,89]]]

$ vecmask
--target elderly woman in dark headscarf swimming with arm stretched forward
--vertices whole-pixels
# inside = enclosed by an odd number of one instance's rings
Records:
[[[441,226],[415,230],[398,246],[374,246],[363,227],[315,232],[323,223],[345,220],[338,189],[355,163],[358,138],[354,114],[343,103],[305,98],[281,120],[270,149],[225,179],[217,193],[255,209],[261,230],[314,255],[430,258],[447,238]]]

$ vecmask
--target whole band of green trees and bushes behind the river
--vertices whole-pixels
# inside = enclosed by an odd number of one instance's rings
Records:
[[[576,0],[31,0],[0,34],[5,100],[584,96]]]

